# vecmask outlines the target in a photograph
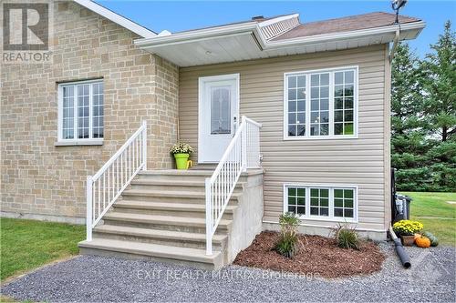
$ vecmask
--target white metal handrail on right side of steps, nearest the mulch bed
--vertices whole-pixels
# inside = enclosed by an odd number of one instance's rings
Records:
[[[212,177],[206,178],[206,254],[212,255],[212,237],[233,195],[241,174],[247,168],[261,167],[261,124],[243,116]]]

